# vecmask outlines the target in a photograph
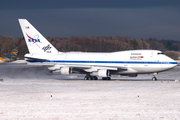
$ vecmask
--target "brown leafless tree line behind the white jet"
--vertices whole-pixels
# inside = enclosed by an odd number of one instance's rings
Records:
[[[83,52],[114,52],[123,50],[152,49],[160,50],[171,56],[176,51],[178,59],[180,52],[180,41],[157,40],[156,38],[135,39],[128,37],[48,37],[48,41],[61,52],[83,51]],[[19,47],[19,56],[28,53],[24,38],[0,36],[0,56],[6,56],[16,46]],[[172,53],[172,54],[174,54]],[[177,56],[178,54],[178,56]]]

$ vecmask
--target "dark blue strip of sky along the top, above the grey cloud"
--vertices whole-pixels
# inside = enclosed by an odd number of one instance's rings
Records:
[[[179,0],[4,0],[1,10],[179,7]]]

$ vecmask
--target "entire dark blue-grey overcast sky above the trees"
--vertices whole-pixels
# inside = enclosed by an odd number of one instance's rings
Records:
[[[45,37],[180,40],[180,0],[3,0],[0,36],[23,37],[18,18]]]

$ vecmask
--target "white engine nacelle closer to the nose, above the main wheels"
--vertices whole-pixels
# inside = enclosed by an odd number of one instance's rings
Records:
[[[100,76],[100,77],[109,77],[110,76],[110,73],[107,69],[103,69],[103,70],[98,70],[98,71],[95,71],[95,72],[92,72],[91,73],[92,76]]]

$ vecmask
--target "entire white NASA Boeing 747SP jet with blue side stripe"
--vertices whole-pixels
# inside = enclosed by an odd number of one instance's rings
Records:
[[[29,65],[47,66],[52,72],[86,74],[85,80],[97,80],[98,77],[110,80],[112,75],[136,77],[138,74],[154,73],[152,80],[157,80],[157,73],[177,65],[158,50],[59,52],[26,19],[19,19],[19,23],[29,50],[25,60]]]

